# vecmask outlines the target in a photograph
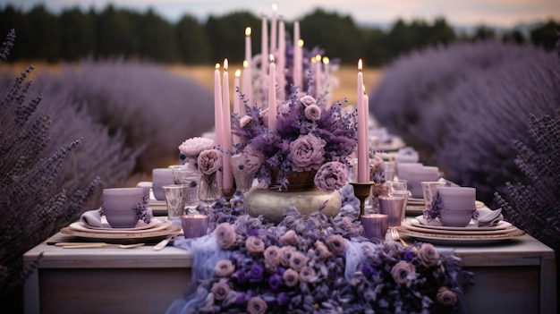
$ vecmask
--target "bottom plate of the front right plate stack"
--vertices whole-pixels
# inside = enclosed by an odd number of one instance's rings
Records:
[[[422,233],[412,231],[404,225],[399,225],[396,229],[405,236],[410,236],[422,242],[429,242],[441,245],[479,245],[492,244],[496,242],[504,242],[514,239],[525,234],[520,229],[513,229],[508,233],[499,234],[440,234],[440,233]]]

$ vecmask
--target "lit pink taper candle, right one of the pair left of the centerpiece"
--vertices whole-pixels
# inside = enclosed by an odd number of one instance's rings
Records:
[[[227,73],[227,59],[224,60],[224,80],[222,81],[223,95],[222,95],[222,109],[223,123],[224,123],[224,145],[222,149],[222,175],[223,182],[218,186],[224,189],[233,189],[233,173],[232,173],[232,115],[230,114],[229,102],[229,75]]]

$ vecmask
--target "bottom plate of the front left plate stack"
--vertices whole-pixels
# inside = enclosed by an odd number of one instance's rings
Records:
[[[79,237],[82,239],[100,241],[108,243],[131,243],[131,242],[157,242],[164,239],[167,235],[175,235],[182,233],[181,225],[169,225],[165,229],[160,230],[143,230],[138,233],[101,233],[101,232],[83,232],[72,229],[70,226],[60,229],[61,233]]]

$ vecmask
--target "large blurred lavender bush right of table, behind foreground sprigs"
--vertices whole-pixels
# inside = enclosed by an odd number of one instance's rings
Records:
[[[512,139],[528,139],[530,113],[555,114],[559,78],[557,56],[537,47],[457,43],[391,64],[370,108],[420,151],[421,161],[490,203],[505,182],[522,180]]]

